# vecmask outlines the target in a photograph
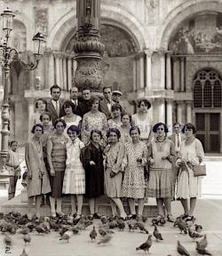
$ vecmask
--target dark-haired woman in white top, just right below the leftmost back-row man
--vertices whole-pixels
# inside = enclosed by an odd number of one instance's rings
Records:
[[[69,136],[67,135],[67,128],[71,125],[75,125],[80,128],[82,117],[75,115],[75,104],[71,100],[65,101],[62,108],[66,113],[66,116],[62,116],[61,119],[63,119],[67,124],[67,127],[64,130],[64,135],[67,136],[67,138],[70,140]]]

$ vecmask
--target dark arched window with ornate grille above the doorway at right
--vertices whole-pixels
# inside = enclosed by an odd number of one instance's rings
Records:
[[[194,77],[194,108],[221,108],[222,78],[217,71],[203,69]]]

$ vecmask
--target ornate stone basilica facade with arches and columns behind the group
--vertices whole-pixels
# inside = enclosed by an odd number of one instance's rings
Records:
[[[15,14],[12,47],[27,59],[32,36],[46,37],[39,68],[12,62],[11,140],[24,145],[28,120],[38,98],[49,98],[59,84],[68,99],[75,78],[75,0],[1,0]],[[131,114],[147,99],[154,123],[192,122],[206,153],[222,153],[222,0],[101,0],[100,68],[104,85],[123,92]],[[3,73],[0,71],[0,86]]]

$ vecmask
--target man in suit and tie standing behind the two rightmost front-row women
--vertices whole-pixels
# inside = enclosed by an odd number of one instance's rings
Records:
[[[182,140],[186,139],[186,136],[181,132],[181,125],[179,123],[173,124],[173,130],[174,130],[174,132],[168,137],[168,139],[172,140],[174,147],[175,147],[176,156],[178,156],[181,142],[182,142]],[[172,171],[173,171],[173,182],[174,182],[174,184],[176,184],[179,168],[175,165],[175,163],[173,163]]]

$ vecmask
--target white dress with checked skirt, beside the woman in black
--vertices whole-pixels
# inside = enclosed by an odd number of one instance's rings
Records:
[[[64,175],[62,193],[83,195],[85,193],[85,173],[80,161],[83,141],[76,138],[67,142],[67,168]]]

